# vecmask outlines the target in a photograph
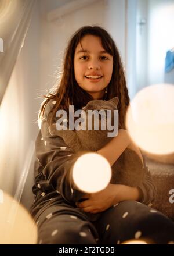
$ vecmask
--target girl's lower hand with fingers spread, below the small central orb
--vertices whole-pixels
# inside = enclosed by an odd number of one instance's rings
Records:
[[[82,198],[88,199],[75,204],[84,212],[92,212],[93,214],[103,212],[119,200],[119,186],[121,185],[109,183],[105,189],[97,193],[85,194]]]

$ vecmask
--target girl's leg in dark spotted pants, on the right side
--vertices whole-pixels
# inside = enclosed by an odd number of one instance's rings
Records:
[[[174,243],[174,223],[171,219],[132,200],[108,208],[93,224],[102,244],[119,244],[143,238],[155,244]]]

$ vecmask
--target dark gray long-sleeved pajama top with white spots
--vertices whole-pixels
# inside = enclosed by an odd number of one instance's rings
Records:
[[[34,217],[56,204],[66,203],[77,208],[75,202],[85,194],[76,190],[72,182],[72,169],[77,155],[64,143],[63,138],[49,133],[48,115],[54,103],[51,99],[46,104],[41,130],[35,141],[35,182],[32,187],[35,201],[31,207]],[[147,167],[144,173],[144,181],[138,188],[142,194],[142,203],[149,204],[154,201],[157,191]]]

